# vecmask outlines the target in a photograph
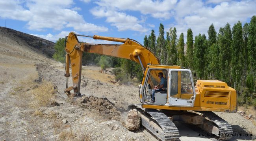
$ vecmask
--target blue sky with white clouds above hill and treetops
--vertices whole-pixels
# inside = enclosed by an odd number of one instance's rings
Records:
[[[255,7],[256,0],[0,0],[0,26],[53,42],[74,31],[143,43],[151,29],[158,35],[160,23],[165,32],[176,27],[178,37],[183,32],[186,38],[189,28],[194,37],[199,33],[207,36],[211,24],[218,32],[226,23],[232,27],[238,21],[250,22]]]

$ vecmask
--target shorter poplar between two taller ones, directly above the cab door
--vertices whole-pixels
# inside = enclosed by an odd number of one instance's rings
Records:
[[[178,48],[178,65],[185,66],[185,55],[184,55],[184,35],[180,34],[179,42],[177,45]]]

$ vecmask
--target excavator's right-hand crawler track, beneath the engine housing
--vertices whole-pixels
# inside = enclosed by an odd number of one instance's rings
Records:
[[[233,134],[233,129],[231,125],[228,122],[226,122],[224,119],[217,116],[213,112],[208,112],[208,111],[203,111],[203,112],[197,111],[197,112],[202,113],[203,117],[205,117],[206,119],[208,118],[211,122],[215,123],[215,125],[217,125],[217,127],[219,128],[219,136],[217,139],[213,139],[213,140],[226,141],[232,138],[232,136],[230,135]]]

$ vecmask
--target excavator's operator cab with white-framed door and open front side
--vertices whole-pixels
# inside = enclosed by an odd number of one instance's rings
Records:
[[[176,67],[176,66],[175,66]],[[174,107],[193,107],[195,103],[195,87],[189,69],[176,69],[172,66],[149,66],[141,85],[142,103],[145,105],[165,105]],[[163,73],[166,85],[160,90],[154,86],[160,84],[158,73]],[[155,102],[152,102],[154,96]]]

